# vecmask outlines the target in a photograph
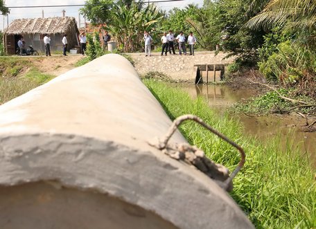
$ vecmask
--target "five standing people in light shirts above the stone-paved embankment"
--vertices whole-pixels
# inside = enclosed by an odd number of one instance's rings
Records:
[[[145,41],[145,54],[147,56],[151,56],[151,44],[152,44],[152,37],[149,35],[147,31],[144,32],[143,39]],[[179,55],[186,55],[186,42],[188,43],[188,48],[190,50],[190,55],[194,55],[194,46],[197,42],[197,39],[193,35],[192,32],[189,33],[187,39],[184,35],[184,33],[181,31],[177,37],[173,35],[173,30],[169,30],[169,33],[166,32],[161,37],[161,55],[167,55],[167,52],[171,54],[171,51],[173,51],[173,54],[175,55],[175,41],[177,41],[179,45]]]

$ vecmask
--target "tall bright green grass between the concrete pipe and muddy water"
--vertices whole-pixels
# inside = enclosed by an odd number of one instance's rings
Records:
[[[283,151],[279,139],[259,143],[244,136],[238,122],[209,109],[204,100],[192,100],[187,93],[164,82],[152,79],[143,82],[171,119],[186,113],[197,115],[245,149],[247,161],[234,179],[231,196],[256,228],[316,227],[315,170],[310,167],[308,157],[292,147],[290,138]],[[180,131],[213,161],[231,171],[236,167],[239,161],[236,149],[203,127],[186,122]]]

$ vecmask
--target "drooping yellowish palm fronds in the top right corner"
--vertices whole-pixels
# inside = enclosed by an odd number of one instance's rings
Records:
[[[272,25],[314,29],[316,26],[316,1],[271,0],[260,14],[245,24],[249,28],[259,28],[260,26],[267,28]]]

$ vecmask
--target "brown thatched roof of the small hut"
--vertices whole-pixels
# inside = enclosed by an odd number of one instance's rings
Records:
[[[6,29],[6,34],[65,33],[69,26],[76,26],[74,17],[48,17],[33,19],[15,19]]]

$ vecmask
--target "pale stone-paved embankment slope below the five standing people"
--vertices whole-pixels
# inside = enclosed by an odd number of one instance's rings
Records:
[[[165,73],[173,80],[194,80],[197,68],[195,64],[229,64],[234,57],[223,59],[228,53],[218,53],[211,51],[195,52],[195,55],[176,55],[152,53],[151,57],[146,57],[144,53],[128,53],[135,62],[135,68],[139,74],[150,71]],[[211,73],[209,73],[211,75]],[[211,77],[211,76],[210,76]],[[194,82],[194,81],[193,81]]]

